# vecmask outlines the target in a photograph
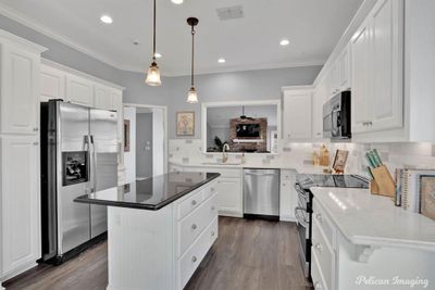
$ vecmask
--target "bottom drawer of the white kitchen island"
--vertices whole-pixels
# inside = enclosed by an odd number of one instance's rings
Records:
[[[217,238],[217,217],[201,232],[195,243],[178,261],[179,289],[183,289]]]

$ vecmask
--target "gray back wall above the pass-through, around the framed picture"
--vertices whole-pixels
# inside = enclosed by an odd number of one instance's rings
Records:
[[[312,85],[322,66],[303,66],[236,73],[199,75],[196,88],[200,103],[186,103],[189,77],[172,77],[169,86],[170,138],[177,138],[175,124],[177,111],[195,111],[195,136],[201,138],[201,102],[279,99],[284,86]]]

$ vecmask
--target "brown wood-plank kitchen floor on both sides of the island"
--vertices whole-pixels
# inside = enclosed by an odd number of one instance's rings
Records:
[[[220,217],[219,238],[186,290],[308,290],[291,223]],[[58,267],[38,267],[3,283],[7,290],[102,290],[107,243]],[[157,289],[153,289],[157,290]]]

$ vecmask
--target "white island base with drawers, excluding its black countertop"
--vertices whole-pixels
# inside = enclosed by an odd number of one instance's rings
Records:
[[[219,180],[156,211],[108,206],[107,289],[183,289],[217,238]]]

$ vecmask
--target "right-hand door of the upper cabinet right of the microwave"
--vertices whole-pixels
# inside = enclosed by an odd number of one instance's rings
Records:
[[[402,1],[398,0],[381,0],[371,13],[370,130],[402,126]]]

